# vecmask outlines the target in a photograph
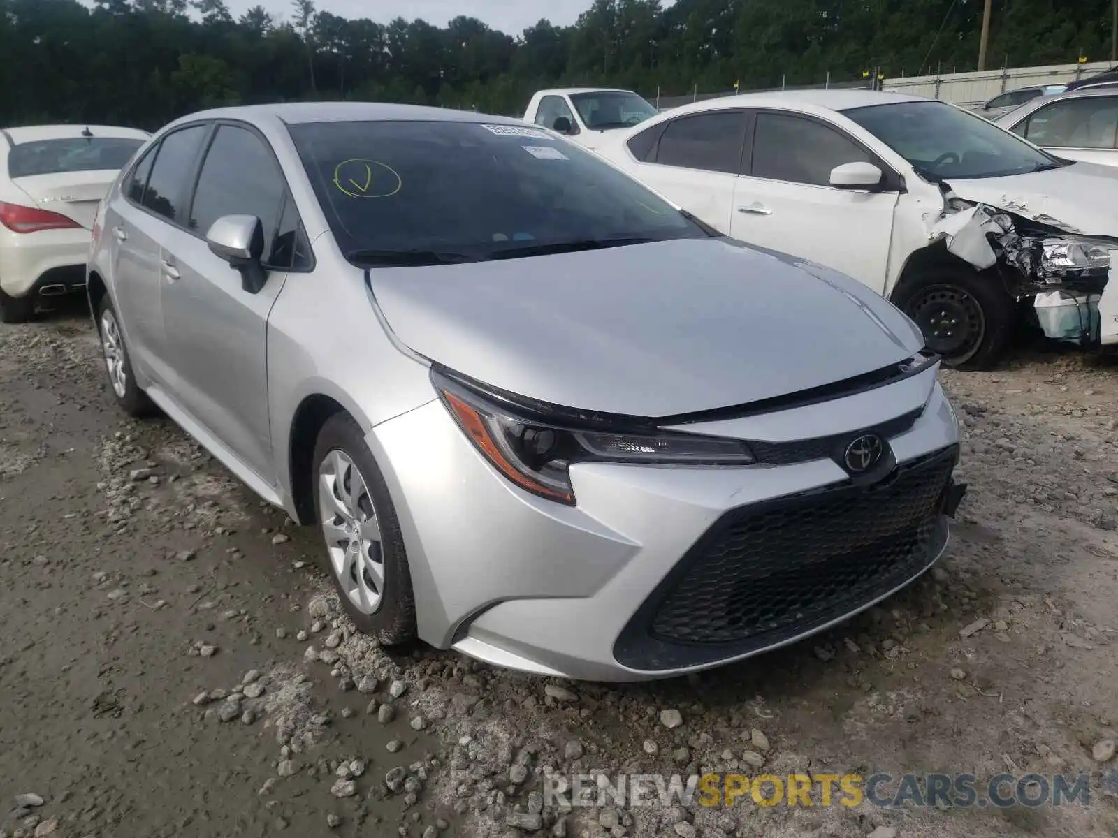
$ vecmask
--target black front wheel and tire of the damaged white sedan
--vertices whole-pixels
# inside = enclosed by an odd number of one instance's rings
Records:
[[[994,368],[1013,335],[1013,298],[974,270],[946,267],[912,276],[893,302],[920,326],[928,349],[958,370]]]

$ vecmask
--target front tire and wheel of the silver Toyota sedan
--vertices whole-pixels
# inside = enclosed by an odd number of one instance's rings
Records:
[[[415,598],[396,507],[348,413],[326,420],[314,447],[314,506],[323,565],[342,608],[385,646],[415,637]]]

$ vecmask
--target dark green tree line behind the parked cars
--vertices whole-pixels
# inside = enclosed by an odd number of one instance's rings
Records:
[[[974,69],[983,0],[593,0],[513,36],[350,20],[294,0],[239,19],[224,0],[0,0],[0,125],[155,128],[224,104],[366,99],[519,115],[531,93],[609,85],[652,98]],[[1111,0],[994,0],[988,66],[1110,54]]]

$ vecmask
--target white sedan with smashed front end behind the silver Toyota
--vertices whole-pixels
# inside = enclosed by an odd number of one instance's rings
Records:
[[[1058,340],[1118,345],[1118,169],[1058,158],[954,105],[730,96],[598,152],[733,238],[869,285],[954,366],[995,363],[1022,316]]]

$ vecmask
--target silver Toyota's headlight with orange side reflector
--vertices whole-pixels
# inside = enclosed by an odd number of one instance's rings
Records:
[[[745,442],[695,434],[614,432],[565,427],[489,399],[437,372],[439,398],[474,447],[501,474],[528,492],[575,504],[568,468],[572,463],[661,465],[749,465],[757,459]]]

